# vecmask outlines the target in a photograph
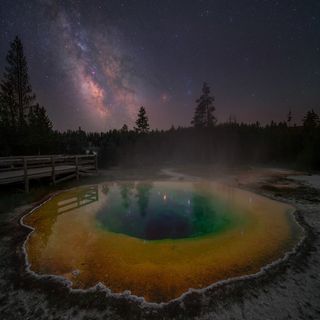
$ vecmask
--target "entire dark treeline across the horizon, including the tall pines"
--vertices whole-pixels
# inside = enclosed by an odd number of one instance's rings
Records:
[[[218,123],[215,98],[204,82],[190,127],[150,130],[141,107],[136,126],[106,132],[53,130],[44,107],[36,102],[29,83],[21,40],[16,37],[7,55],[0,91],[0,156],[82,154],[97,152],[100,167],[170,164],[281,165],[320,169],[320,121],[311,109],[302,125],[286,121],[262,126]]]

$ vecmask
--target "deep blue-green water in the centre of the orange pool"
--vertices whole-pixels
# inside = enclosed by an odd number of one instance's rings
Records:
[[[239,221],[232,208],[205,190],[181,185],[122,183],[108,188],[97,213],[100,227],[146,240],[216,234]]]

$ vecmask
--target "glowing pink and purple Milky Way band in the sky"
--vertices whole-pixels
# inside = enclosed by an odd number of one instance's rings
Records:
[[[82,111],[91,115],[101,130],[121,122],[131,124],[139,102],[131,83],[134,74],[118,44],[120,35],[115,30],[103,30],[103,26],[86,30],[62,9],[52,22],[52,32],[57,31],[61,68],[79,93]]]

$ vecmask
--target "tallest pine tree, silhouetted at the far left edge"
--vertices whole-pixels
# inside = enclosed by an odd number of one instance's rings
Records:
[[[1,81],[1,97],[4,103],[2,117],[10,127],[23,127],[35,95],[29,83],[27,60],[21,40],[16,37],[6,57],[7,66]]]

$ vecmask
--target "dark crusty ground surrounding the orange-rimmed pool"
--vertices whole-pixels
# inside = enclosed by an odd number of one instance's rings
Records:
[[[35,200],[52,189],[37,188],[28,197],[10,196],[10,192],[2,190],[0,319],[320,319],[320,190],[315,188],[317,184],[312,187],[291,174],[275,169],[226,173],[209,167],[144,168],[143,172],[114,169],[103,173],[100,180],[219,179],[297,208],[297,219],[307,238],[287,261],[260,277],[192,293],[166,305],[148,305],[123,296],[106,297],[102,291],[70,293],[53,279],[38,280],[26,273],[21,246],[29,231],[20,226],[19,220],[35,205]]]

